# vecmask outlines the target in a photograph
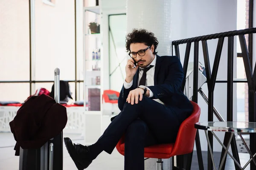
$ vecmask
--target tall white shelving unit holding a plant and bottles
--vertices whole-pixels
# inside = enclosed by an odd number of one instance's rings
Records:
[[[96,142],[102,134],[103,48],[102,29],[100,27],[102,23],[100,4],[101,3],[99,3],[99,6],[84,7],[83,76],[85,144]],[[90,28],[90,23],[93,23],[94,27]],[[88,102],[88,107],[85,107],[86,102]],[[91,127],[93,127],[93,129]]]

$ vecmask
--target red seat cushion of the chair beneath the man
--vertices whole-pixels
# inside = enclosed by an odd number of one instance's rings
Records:
[[[145,158],[157,158],[157,159],[168,159],[172,157],[171,155],[173,150],[174,143],[171,144],[156,144],[153,146],[144,148],[144,157]],[[122,155],[125,152],[125,143],[120,145],[120,150]]]

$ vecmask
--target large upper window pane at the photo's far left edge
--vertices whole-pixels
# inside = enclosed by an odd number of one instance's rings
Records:
[[[28,0],[0,1],[0,37],[0,81],[29,80]]]

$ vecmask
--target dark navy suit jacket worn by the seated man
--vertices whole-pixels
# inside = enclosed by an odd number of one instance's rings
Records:
[[[148,86],[154,96],[151,99],[160,99],[167,107],[177,114],[182,122],[193,111],[193,106],[189,99],[183,94],[181,85],[183,82],[183,68],[180,60],[176,56],[158,56],[155,71],[154,85]],[[129,89],[124,86],[118,98],[118,107],[122,111],[126,98],[131,90],[138,88],[139,69],[133,78],[133,85]],[[157,113],[156,113],[157,116]]]

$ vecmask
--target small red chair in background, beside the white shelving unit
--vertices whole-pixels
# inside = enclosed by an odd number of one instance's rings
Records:
[[[119,92],[118,91],[113,91],[113,90],[105,90],[103,91],[103,96],[102,96],[102,103],[103,100],[105,103],[111,103],[112,104],[112,109],[111,109],[111,114],[114,114],[114,105],[118,103],[118,97],[119,97]]]

